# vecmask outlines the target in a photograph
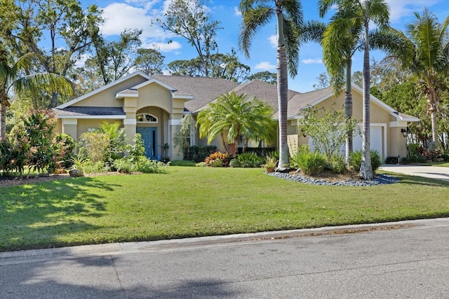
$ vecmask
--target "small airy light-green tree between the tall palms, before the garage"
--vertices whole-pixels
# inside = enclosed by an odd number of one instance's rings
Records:
[[[354,118],[347,120],[342,109],[325,111],[323,108],[308,107],[304,109],[300,125],[302,133],[311,137],[317,150],[326,155],[328,161],[340,151],[348,130],[360,134],[357,121]]]

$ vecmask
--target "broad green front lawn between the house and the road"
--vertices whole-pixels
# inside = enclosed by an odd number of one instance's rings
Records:
[[[312,186],[263,172],[169,167],[0,188],[0,251],[449,216],[449,182]]]

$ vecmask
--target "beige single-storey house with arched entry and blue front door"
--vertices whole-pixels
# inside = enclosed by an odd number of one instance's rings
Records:
[[[221,78],[148,76],[140,71],[109,83],[98,90],[73,99],[54,109],[58,118],[57,130],[69,134],[75,140],[83,132],[94,130],[107,121],[123,125],[128,142],[135,133],[142,134],[147,156],[161,158],[161,144],[173,144],[173,135],[186,113],[196,114],[226,92],[257,97],[273,106],[276,119],[278,102],[276,85],[261,81],[244,84]],[[361,88],[354,86],[354,118],[361,120]],[[342,106],[344,95],[334,97],[330,88],[300,93],[288,91],[288,135],[292,144],[308,144],[307,137],[298,132],[298,120],[302,109],[308,105],[329,108],[334,103]],[[379,99],[371,97],[371,148],[380,151],[382,157],[406,155],[406,138],[401,130],[408,122],[418,121],[391,109]],[[361,146],[361,139],[354,138],[354,148]],[[192,145],[206,145],[206,140],[192,136]],[[277,143],[276,143],[277,144]],[[360,144],[360,146],[359,146]],[[214,141],[221,149],[221,142]],[[170,146],[171,160],[182,159],[182,154]]]

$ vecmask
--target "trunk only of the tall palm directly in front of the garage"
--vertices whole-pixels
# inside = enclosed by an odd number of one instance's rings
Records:
[[[362,179],[373,179],[370,146],[370,46],[368,44],[368,21],[365,23],[365,51],[363,53],[363,125],[362,125]]]

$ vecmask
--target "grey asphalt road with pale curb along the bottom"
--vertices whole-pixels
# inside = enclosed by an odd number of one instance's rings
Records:
[[[449,298],[449,218],[0,253],[0,298]]]

